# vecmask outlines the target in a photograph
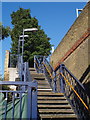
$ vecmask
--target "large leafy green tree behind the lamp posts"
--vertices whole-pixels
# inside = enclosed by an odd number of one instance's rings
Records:
[[[48,56],[51,50],[50,38],[47,37],[38,20],[31,17],[30,9],[20,8],[11,14],[13,29],[11,31],[12,48],[11,53],[17,54],[18,39],[23,33],[23,28],[38,28],[36,32],[25,32],[29,37],[25,38],[24,44],[24,61],[28,61],[30,66],[33,65],[34,55]]]

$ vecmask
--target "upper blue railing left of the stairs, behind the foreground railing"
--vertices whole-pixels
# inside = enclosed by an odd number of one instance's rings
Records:
[[[13,61],[13,59],[15,61]],[[23,62],[23,58],[22,58],[22,56],[20,54],[19,55],[10,54],[9,66],[8,67],[9,68],[15,67],[17,69],[20,81],[24,81],[24,82],[32,81],[32,78],[31,78],[31,75],[30,75],[30,71],[29,71],[28,62]]]

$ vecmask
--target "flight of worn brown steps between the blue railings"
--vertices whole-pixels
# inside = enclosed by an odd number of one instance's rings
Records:
[[[30,68],[31,77],[38,82],[39,120],[77,120],[71,105],[63,93],[54,93],[43,73]]]

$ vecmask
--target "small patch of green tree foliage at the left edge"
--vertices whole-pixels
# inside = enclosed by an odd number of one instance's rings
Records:
[[[9,34],[10,34],[10,27],[4,27],[0,23],[0,40],[4,40],[9,36]]]

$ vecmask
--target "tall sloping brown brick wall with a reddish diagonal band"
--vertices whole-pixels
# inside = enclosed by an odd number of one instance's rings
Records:
[[[89,11],[90,2],[85,6],[50,58],[54,69],[60,63],[64,63],[78,79],[84,75],[89,66]]]

